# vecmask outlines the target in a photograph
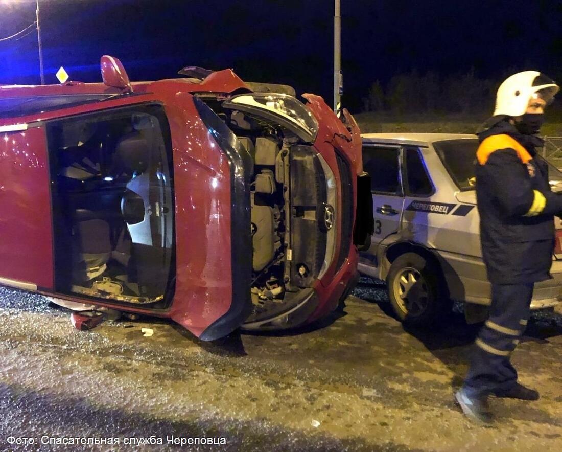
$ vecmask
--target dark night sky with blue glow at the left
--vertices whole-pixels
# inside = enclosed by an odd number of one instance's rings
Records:
[[[232,67],[248,81],[285,83],[332,105],[332,0],[39,0],[48,83],[101,81],[99,57],[132,80],[183,66]],[[35,1],[0,0],[0,39],[35,20]],[[379,79],[474,68],[482,78],[536,69],[562,80],[562,2],[341,0],[343,103]],[[37,34],[0,41],[0,83],[38,83]]]

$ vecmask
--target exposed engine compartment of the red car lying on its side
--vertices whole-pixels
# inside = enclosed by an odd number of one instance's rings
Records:
[[[203,100],[229,126],[253,160],[253,310],[244,327],[283,327],[291,311],[314,292],[314,283],[333,257],[335,228],[329,230],[336,207],[333,174],[310,143],[271,117],[225,108],[216,99]],[[331,222],[328,227],[326,212]]]

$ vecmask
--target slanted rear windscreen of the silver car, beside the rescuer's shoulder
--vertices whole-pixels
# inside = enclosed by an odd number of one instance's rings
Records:
[[[437,155],[461,190],[474,189],[477,138],[451,139],[433,143]]]

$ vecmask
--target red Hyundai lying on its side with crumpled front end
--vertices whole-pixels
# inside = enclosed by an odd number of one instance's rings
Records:
[[[0,284],[202,340],[334,310],[369,233],[351,115],[232,70],[130,83],[104,56],[101,71],[0,87]]]

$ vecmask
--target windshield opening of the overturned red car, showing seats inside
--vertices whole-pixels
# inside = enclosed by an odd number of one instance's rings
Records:
[[[174,250],[166,130],[161,106],[49,121],[57,292],[164,307]]]

